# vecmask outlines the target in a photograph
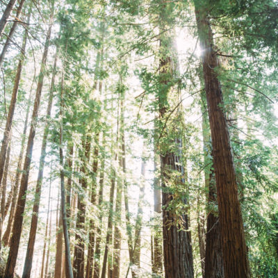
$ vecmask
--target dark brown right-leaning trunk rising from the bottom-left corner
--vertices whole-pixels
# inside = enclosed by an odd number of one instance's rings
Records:
[[[47,61],[47,53],[49,49],[49,42],[50,42],[50,35],[51,35],[51,28],[52,28],[52,15],[51,15],[51,23],[49,24],[49,29],[47,31],[47,39],[44,46],[44,53],[42,55],[42,64],[40,67],[40,75],[38,79],[38,87],[35,93],[35,102],[33,107],[33,115],[32,115],[32,122],[30,127],[30,133],[28,137],[27,149],[26,149],[26,156],[24,161],[24,172],[22,173],[22,181],[19,188],[19,195],[17,200],[17,208],[15,211],[15,220],[13,225],[13,236],[10,242],[10,252],[8,255],[8,261],[6,264],[6,271],[5,271],[5,278],[12,278],[14,271],[15,271],[15,263],[17,261],[17,253],[19,248],[19,241],[20,236],[22,233],[22,222],[23,222],[23,213],[26,203],[26,190],[28,188],[28,177],[29,177],[29,170],[31,165],[32,159],[32,152],[33,152],[33,142],[35,138],[35,126],[37,125],[38,121],[38,109],[40,106],[40,96],[42,94],[42,84],[44,79],[44,68],[45,63]]]

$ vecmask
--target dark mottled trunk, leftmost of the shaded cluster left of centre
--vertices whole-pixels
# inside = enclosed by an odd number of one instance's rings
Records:
[[[85,224],[85,202],[84,202],[84,194],[88,187],[88,181],[86,178],[87,174],[87,164],[90,160],[90,146],[91,146],[91,136],[84,136],[82,147],[84,154],[81,155],[81,172],[83,176],[81,177],[81,187],[83,193],[79,194],[78,197],[78,211],[77,211],[77,220],[76,220],[76,229],[78,233],[76,233],[76,245],[74,247],[74,278],[83,278],[84,277],[84,248],[85,243],[83,239],[84,233],[84,224]],[[81,235],[80,235],[81,234]]]

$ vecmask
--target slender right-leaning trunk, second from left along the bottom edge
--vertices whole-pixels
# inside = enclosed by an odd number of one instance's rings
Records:
[[[46,115],[46,122],[44,126],[44,133],[42,136],[42,149],[40,151],[40,164],[39,164],[39,172],[38,172],[38,179],[37,184],[35,187],[35,200],[33,204],[33,213],[31,219],[31,228],[29,233],[29,240],[27,245],[27,252],[25,257],[24,263],[24,270],[22,274],[22,278],[29,278],[31,275],[32,269],[32,261],[33,261],[33,252],[34,252],[34,245],[35,245],[35,236],[37,234],[37,227],[38,227],[38,213],[40,208],[40,195],[42,193],[42,179],[44,174],[44,161],[45,156],[47,155],[47,136],[49,133],[49,118],[51,117],[51,107],[52,107],[52,100],[53,100],[53,93],[54,93],[54,83],[55,83],[55,76],[56,76],[56,63],[57,63],[57,56],[58,56],[58,49],[56,49],[56,54],[54,58],[54,68],[53,74],[51,79],[51,86],[49,92],[49,100],[47,105],[47,115]]]

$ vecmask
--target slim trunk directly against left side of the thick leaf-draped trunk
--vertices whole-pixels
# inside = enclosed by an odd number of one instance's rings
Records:
[[[156,146],[154,147],[154,218],[158,218],[156,222],[159,221],[159,224],[161,224],[161,186],[160,186],[160,180],[157,175],[158,171],[158,160],[159,156],[156,152]],[[163,251],[162,251],[162,245],[161,245],[161,226],[155,225],[154,227],[154,259],[153,259],[153,268],[152,272],[155,275],[161,275],[163,271]]]

